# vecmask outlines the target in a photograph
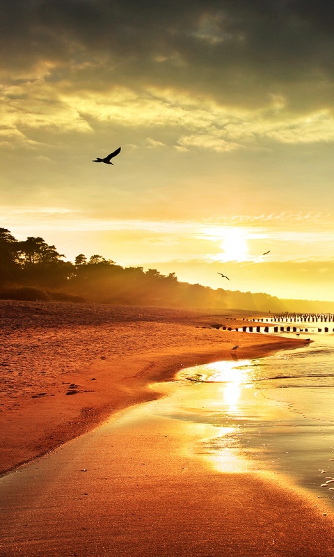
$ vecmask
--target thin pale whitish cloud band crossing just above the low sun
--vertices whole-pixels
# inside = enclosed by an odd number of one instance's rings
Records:
[[[255,214],[236,214],[221,219],[145,219],[145,218],[102,218],[88,217],[81,209],[61,207],[57,205],[15,205],[0,206],[0,217],[10,221],[27,221],[36,219],[36,223],[45,226],[51,215],[61,216],[64,230],[72,230],[72,226],[82,226],[86,230],[145,230],[162,235],[183,235],[184,237],[203,238],[207,240],[221,239],[226,230],[234,228],[246,239],[284,240],[300,242],[321,242],[332,240],[334,236],[333,214],[331,212],[284,212]],[[66,221],[65,217],[68,217]],[[77,221],[74,223],[74,221]],[[53,223],[49,222],[52,227]],[[70,228],[68,228],[70,227]]]

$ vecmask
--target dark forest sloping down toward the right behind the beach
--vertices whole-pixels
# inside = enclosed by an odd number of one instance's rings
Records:
[[[265,293],[209,288],[177,280],[175,273],[121,267],[100,255],[74,262],[42,237],[16,240],[0,228],[0,299],[73,301],[99,304],[228,308],[261,312],[334,311],[330,302],[283,300]]]

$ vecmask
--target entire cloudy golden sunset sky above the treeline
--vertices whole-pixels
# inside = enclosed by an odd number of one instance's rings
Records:
[[[334,301],[333,20],[329,0],[1,0],[0,226]]]

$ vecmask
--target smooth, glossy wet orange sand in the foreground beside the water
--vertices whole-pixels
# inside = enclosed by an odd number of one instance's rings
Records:
[[[237,466],[217,473],[193,450],[213,426],[152,416],[159,402],[0,478],[1,556],[333,557],[322,501]]]

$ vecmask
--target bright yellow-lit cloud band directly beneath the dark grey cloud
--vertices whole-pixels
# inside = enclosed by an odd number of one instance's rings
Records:
[[[273,97],[263,109],[221,107],[209,98],[163,91],[134,91],[114,87],[108,93],[64,91],[63,84],[35,79],[1,88],[0,116],[5,130],[19,143],[29,130],[58,134],[91,133],[97,123],[123,127],[175,130],[172,145],[230,152],[273,143],[301,144],[334,141],[334,118],[329,111],[294,116],[278,109]],[[279,113],[278,113],[279,112]],[[155,146],[166,141],[152,139]],[[169,140],[170,143],[170,140]],[[152,143],[148,145],[152,147]]]

